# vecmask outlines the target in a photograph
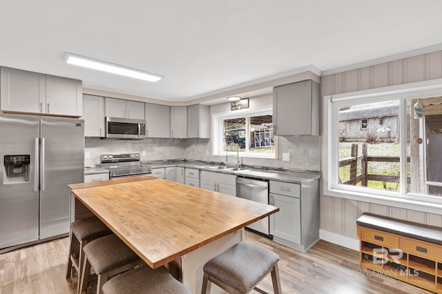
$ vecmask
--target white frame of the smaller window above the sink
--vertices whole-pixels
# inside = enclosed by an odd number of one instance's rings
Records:
[[[212,114],[212,154],[218,156],[236,156],[236,152],[233,151],[224,151],[222,150],[222,144],[224,137],[224,126],[222,122],[224,119],[233,119],[237,117],[253,117],[258,115],[272,115],[273,116],[273,108],[272,106],[262,106],[259,108],[253,109],[242,109],[235,110],[229,112],[218,112]],[[246,120],[246,128],[249,130],[249,124]],[[246,140],[250,141],[250,133],[246,132]],[[267,159],[277,159],[278,158],[278,140],[275,136],[275,153],[240,153],[240,157],[251,157],[251,158],[267,158]]]

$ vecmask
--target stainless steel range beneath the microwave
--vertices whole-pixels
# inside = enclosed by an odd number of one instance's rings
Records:
[[[140,153],[103,154],[100,156],[102,168],[111,171],[109,178],[133,177],[135,175],[148,175],[150,166],[142,166]]]

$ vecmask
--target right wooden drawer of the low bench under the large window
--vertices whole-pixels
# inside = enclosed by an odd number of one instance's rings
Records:
[[[411,255],[442,262],[442,246],[430,242],[401,237],[401,250]]]

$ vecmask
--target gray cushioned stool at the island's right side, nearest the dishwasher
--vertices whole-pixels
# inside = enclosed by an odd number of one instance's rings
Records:
[[[279,257],[273,251],[251,242],[240,242],[206,262],[201,293],[210,293],[211,282],[229,293],[249,293],[271,272],[274,293],[281,293]]]

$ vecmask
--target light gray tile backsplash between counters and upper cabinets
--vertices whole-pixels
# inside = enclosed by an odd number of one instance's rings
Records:
[[[143,150],[146,155],[143,155]],[[225,161],[224,156],[211,155],[210,139],[99,139],[85,138],[84,152],[89,154],[84,164],[99,164],[99,155],[140,153],[142,161],[161,159],[194,159]],[[282,153],[290,154],[290,161],[282,161]],[[231,164],[235,157],[229,159]],[[268,166],[294,170],[320,170],[320,137],[278,137],[278,159],[244,157],[243,163],[251,166]]]

